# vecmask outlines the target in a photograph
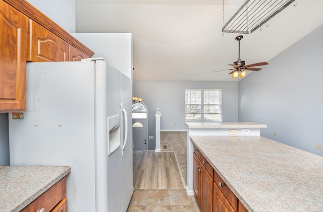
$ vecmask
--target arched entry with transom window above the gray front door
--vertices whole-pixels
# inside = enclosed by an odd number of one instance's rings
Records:
[[[132,137],[133,150],[148,149],[148,109],[142,102],[132,105]]]

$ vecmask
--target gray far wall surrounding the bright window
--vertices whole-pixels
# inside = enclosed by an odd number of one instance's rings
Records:
[[[222,89],[223,122],[238,121],[238,82],[134,81],[134,96],[147,105],[149,149],[155,149],[155,112],[161,111],[161,130],[186,130],[185,89]],[[176,125],[174,124],[176,123]]]

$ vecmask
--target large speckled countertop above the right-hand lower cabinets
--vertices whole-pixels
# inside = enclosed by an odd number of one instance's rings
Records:
[[[322,211],[323,157],[261,136],[190,136],[249,211]]]

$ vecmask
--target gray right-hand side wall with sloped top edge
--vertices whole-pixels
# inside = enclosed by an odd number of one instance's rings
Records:
[[[240,122],[267,124],[262,136],[320,156],[323,150],[316,150],[316,143],[323,145],[322,34],[323,25],[239,84]]]

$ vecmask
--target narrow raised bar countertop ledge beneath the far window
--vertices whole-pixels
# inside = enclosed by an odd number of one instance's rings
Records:
[[[185,122],[188,128],[267,128],[265,124],[252,122]]]

